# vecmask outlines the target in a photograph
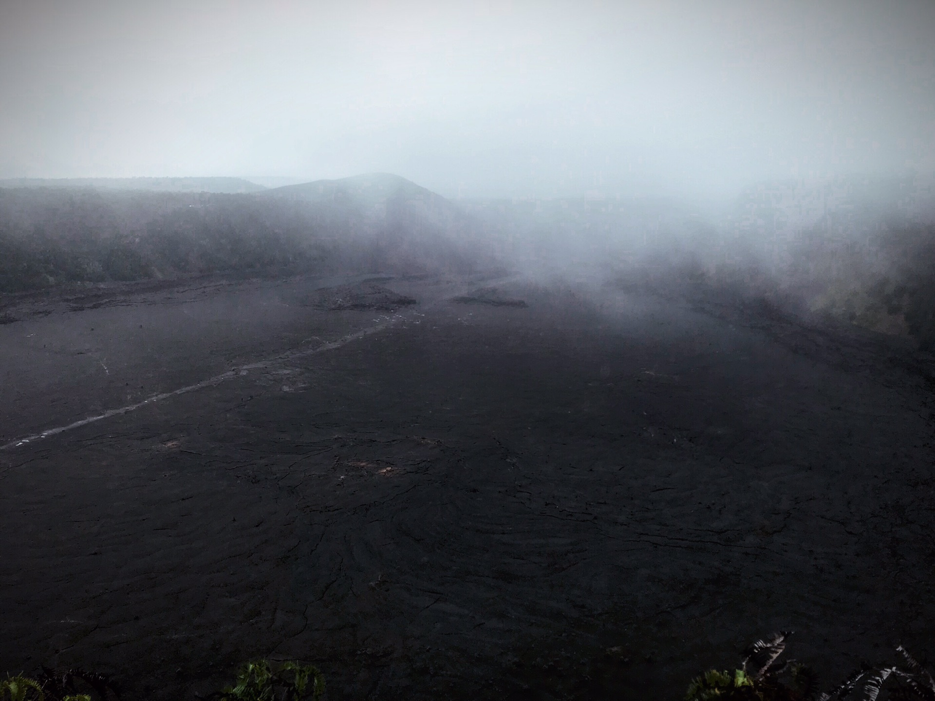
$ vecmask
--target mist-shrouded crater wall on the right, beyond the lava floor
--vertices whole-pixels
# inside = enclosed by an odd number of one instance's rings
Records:
[[[507,257],[759,316],[856,324],[935,347],[935,180],[767,181],[725,203],[472,201]],[[502,248],[502,247],[501,247]]]

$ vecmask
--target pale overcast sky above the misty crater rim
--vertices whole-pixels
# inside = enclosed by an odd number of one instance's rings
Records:
[[[0,177],[724,194],[935,168],[935,2],[0,2]]]

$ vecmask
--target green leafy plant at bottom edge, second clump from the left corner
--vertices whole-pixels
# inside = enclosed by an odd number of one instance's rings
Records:
[[[248,662],[237,671],[234,686],[204,698],[216,701],[317,701],[324,676],[317,667],[286,662],[274,669],[267,660]]]

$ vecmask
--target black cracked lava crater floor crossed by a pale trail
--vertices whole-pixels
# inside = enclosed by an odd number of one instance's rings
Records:
[[[930,652],[924,379],[652,297],[393,286],[420,305],[379,332],[0,451],[0,667],[100,669],[129,698],[272,656],[329,698],[661,699],[780,628],[828,682]],[[0,327],[5,438],[115,406],[124,377],[381,319],[290,301],[313,292]]]

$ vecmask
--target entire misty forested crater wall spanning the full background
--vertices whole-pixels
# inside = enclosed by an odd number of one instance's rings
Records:
[[[935,346],[935,225],[924,208],[904,206],[932,198],[909,181],[759,185],[720,212],[661,199],[452,202],[386,174],[255,193],[79,184],[0,188],[0,293],[212,274],[511,268]],[[808,207],[811,218],[801,216]]]

